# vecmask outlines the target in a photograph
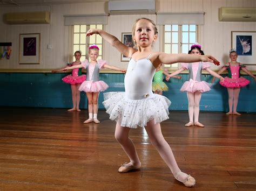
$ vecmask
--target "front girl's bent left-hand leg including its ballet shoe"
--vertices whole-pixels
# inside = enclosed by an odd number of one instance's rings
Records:
[[[118,143],[122,146],[123,150],[127,154],[130,159],[128,164],[122,165],[119,168],[119,172],[128,172],[132,169],[137,169],[140,167],[141,163],[136,152],[136,148],[129,138],[130,128],[124,128],[120,125],[120,122],[117,121],[116,131],[114,132],[114,137],[118,141]]]

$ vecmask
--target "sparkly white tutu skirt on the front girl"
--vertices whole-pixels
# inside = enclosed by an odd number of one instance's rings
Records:
[[[152,94],[143,100],[131,100],[125,97],[125,92],[104,93],[103,105],[111,120],[120,120],[121,126],[137,128],[146,126],[154,119],[160,123],[169,119],[169,106],[171,101],[166,97]]]

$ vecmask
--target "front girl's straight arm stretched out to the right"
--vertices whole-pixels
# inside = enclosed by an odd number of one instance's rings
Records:
[[[219,65],[219,61],[215,59],[211,55],[191,55],[191,54],[166,54],[159,53],[158,59],[160,62],[165,63],[167,65],[171,65],[172,63],[177,62],[214,62],[215,65]],[[156,67],[156,66],[155,66]]]

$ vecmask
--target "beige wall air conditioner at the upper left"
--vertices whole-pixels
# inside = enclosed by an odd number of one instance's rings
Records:
[[[11,12],[4,15],[6,24],[49,24],[50,12]]]

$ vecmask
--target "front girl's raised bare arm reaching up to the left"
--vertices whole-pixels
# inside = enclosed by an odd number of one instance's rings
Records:
[[[92,34],[99,34],[103,39],[107,41],[107,43],[117,48],[120,53],[124,54],[128,58],[131,58],[131,55],[137,51],[132,47],[125,46],[116,37],[114,37],[112,34],[107,33],[106,31],[100,29],[90,29],[89,31],[87,31],[86,36],[89,37]]]

